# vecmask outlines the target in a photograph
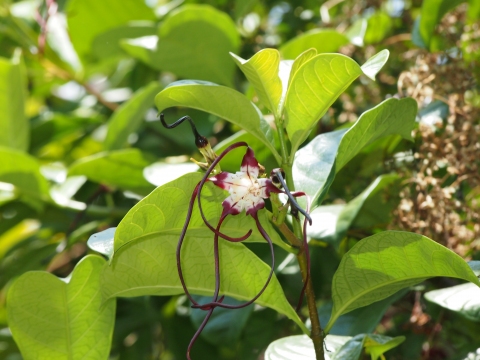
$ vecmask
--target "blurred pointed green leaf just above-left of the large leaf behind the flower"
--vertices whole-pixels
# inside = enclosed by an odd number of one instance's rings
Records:
[[[154,189],[143,176],[143,169],[150,163],[138,149],[115,150],[76,161],[68,169],[68,175],[85,175],[100,184],[146,195]]]

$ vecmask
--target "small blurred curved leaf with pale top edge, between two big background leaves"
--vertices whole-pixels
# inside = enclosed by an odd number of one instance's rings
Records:
[[[157,25],[153,21],[135,21],[102,32],[92,43],[92,53],[98,59],[125,56],[120,45],[123,39],[133,39],[157,34]]]

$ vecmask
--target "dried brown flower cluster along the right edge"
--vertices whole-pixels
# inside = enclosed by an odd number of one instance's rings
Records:
[[[457,49],[463,19],[459,8],[441,25],[457,34]],[[455,52],[415,50],[405,57],[416,62],[400,75],[399,94],[416,99],[419,109],[441,101],[449,111],[446,120],[438,117],[415,130],[414,170],[406,174],[393,227],[422,233],[468,257],[480,250],[480,109],[464,97],[476,85],[472,64]]]

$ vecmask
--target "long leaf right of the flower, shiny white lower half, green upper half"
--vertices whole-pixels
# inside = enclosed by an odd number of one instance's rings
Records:
[[[391,134],[410,140],[416,112],[415,100],[391,98],[364,112],[350,129],[318,135],[296,153],[295,188],[309,194],[313,206],[318,206],[335,174],[364,146]]]

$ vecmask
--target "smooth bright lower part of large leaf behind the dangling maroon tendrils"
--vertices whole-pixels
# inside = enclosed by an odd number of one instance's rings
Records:
[[[193,174],[192,174],[193,175]],[[170,189],[173,191],[173,189]],[[179,195],[177,191],[177,196]],[[157,202],[157,204],[159,204]],[[149,206],[154,210],[154,206]],[[172,205],[170,204],[170,208]],[[182,203],[185,208],[185,204]],[[172,211],[175,218],[183,218],[178,210]],[[160,223],[163,219],[152,212],[148,223]],[[141,214],[137,218],[142,217]],[[121,234],[121,225],[117,234]],[[245,233],[246,227],[237,230]],[[102,296],[105,301],[112,297],[133,297],[143,295],[177,295],[183,288],[177,273],[176,247],[178,234],[172,231],[154,232],[142,236],[133,233],[133,226],[124,236],[130,241],[115,251],[111,266],[102,272]],[[235,233],[222,231],[235,236]],[[125,232],[125,230],[123,229]],[[172,234],[173,233],[173,234]],[[117,244],[115,243],[115,246]],[[220,241],[221,294],[237,300],[248,301],[263,287],[270,267],[241,243]],[[203,227],[187,232],[182,248],[183,275],[192,294],[212,296],[215,289],[213,267],[212,232]],[[256,301],[257,304],[270,307],[286,315],[304,331],[308,330],[288,303],[282,287],[275,276],[272,277],[265,292]]]

